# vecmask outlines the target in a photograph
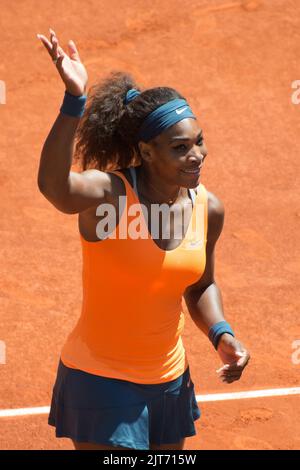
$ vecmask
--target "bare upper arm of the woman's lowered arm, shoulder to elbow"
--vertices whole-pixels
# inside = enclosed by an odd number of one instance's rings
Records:
[[[223,229],[225,208],[222,201],[217,198],[217,196],[210,192],[207,192],[207,194],[208,227],[205,270],[201,278],[196,283],[187,286],[184,296],[189,294],[191,291],[204,291],[214,282],[215,246]]]

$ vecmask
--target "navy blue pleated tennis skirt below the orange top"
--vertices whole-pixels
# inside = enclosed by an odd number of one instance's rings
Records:
[[[59,361],[48,423],[56,437],[131,449],[175,444],[200,418],[189,367],[162,384],[138,384],[66,367]]]

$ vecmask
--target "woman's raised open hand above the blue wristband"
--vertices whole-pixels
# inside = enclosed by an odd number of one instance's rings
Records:
[[[50,29],[50,41],[38,34],[52,60],[56,60],[56,68],[61,76],[66,90],[74,96],[81,96],[86,92],[88,75],[82,64],[77,48],[73,41],[68,42],[69,55],[63,51],[58,43],[55,32]]]

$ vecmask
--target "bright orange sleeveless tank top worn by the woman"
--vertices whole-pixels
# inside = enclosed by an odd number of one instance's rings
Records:
[[[203,184],[197,187],[185,237],[177,248],[165,251],[151,238],[126,177],[114,174],[125,184],[124,207],[118,226],[106,239],[90,242],[80,234],[82,310],[61,360],[67,367],[104,377],[141,384],[168,382],[188,367],[181,337],[182,295],[205,268],[206,189]],[[124,237],[127,230],[131,233],[131,224],[136,226],[138,212],[133,216],[131,207],[138,209],[147,238]]]

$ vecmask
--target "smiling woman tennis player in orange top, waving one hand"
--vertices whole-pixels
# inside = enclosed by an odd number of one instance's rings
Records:
[[[224,206],[199,181],[202,129],[175,89],[142,91],[127,73],[87,97],[74,42],[66,53],[53,30],[38,37],[66,88],[38,186],[78,214],[83,256],[81,316],[62,348],[49,424],[75,449],[183,449],[200,417],[183,301],[224,364],[221,380],[239,380],[249,361],[214,279]],[[81,172],[71,171],[76,158]]]

